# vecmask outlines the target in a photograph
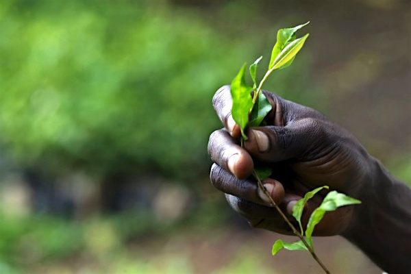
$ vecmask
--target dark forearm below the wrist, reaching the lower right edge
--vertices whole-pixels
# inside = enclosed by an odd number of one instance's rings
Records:
[[[362,190],[362,205],[343,236],[390,274],[411,269],[411,189],[373,160],[370,184]]]

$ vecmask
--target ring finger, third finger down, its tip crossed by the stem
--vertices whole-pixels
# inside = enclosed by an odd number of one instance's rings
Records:
[[[221,168],[217,164],[213,164],[210,172],[210,179],[215,188],[230,195],[235,195],[253,203],[260,203],[269,206],[271,201],[260,190],[257,183],[252,179],[237,179]],[[284,198],[284,187],[275,179],[267,178],[263,181],[264,187],[269,192],[275,203],[281,203]]]

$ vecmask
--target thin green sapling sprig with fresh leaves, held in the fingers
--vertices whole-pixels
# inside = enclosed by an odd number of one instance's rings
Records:
[[[297,39],[296,32],[302,27],[308,25],[308,23],[298,25],[297,27],[279,29],[277,32],[277,42],[275,43],[271,53],[269,69],[266,71],[260,83],[257,81],[256,72],[258,64],[262,60],[262,56],[258,58],[256,62],[253,62],[251,66],[249,66],[249,73],[251,75],[251,79],[253,80],[252,86],[247,85],[245,80],[247,64],[244,64],[238,75],[234,77],[230,88],[233,100],[232,116],[234,121],[236,121],[236,124],[240,127],[242,145],[243,141],[247,140],[245,129],[247,127],[258,127],[262,125],[265,116],[272,108],[269,101],[261,92],[264,82],[266,82],[266,79],[274,71],[284,69],[292,64],[295,56],[303,47],[304,42],[306,42],[308,38],[308,34],[306,34],[305,36]],[[273,256],[283,248],[288,250],[306,250],[309,251],[314,260],[320,264],[325,273],[329,273],[325,265],[321,262],[321,260],[319,260],[318,256],[316,256],[316,253],[314,252],[314,245],[312,243],[312,233],[314,232],[314,227],[321,221],[321,219],[323,219],[325,212],[334,211],[341,206],[348,206],[361,202],[335,190],[329,191],[319,208],[316,208],[316,210],[312,212],[306,230],[304,231],[301,223],[301,216],[303,214],[304,206],[317,192],[323,189],[329,189],[328,186],[316,188],[310,192],[307,192],[305,197],[297,201],[295,206],[292,208],[292,216],[294,216],[299,223],[299,230],[297,230],[294,225],[290,223],[284,212],[282,212],[282,210],[277,206],[275,201],[273,201],[273,198],[262,184],[262,180],[269,177],[271,172],[271,168],[267,166],[255,166],[253,170],[253,177],[256,178],[258,188],[260,188],[264,195],[266,195],[267,199],[269,199],[271,206],[277,210],[292,232],[299,238],[297,242],[284,242],[283,240],[277,240],[273,245]]]

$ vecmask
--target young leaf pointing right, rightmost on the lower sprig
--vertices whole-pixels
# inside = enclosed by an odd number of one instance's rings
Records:
[[[339,193],[336,190],[330,191],[327,196],[325,196],[323,202],[312,212],[310,220],[308,220],[308,225],[306,229],[307,241],[312,247],[312,232],[314,232],[314,227],[323,219],[325,212],[334,211],[342,206],[349,206],[361,203],[360,200],[351,198],[343,193]],[[294,213],[294,212],[293,212]]]

